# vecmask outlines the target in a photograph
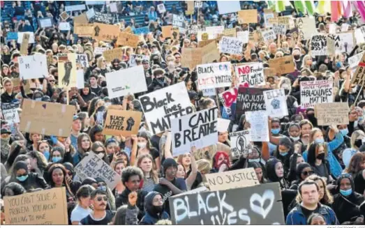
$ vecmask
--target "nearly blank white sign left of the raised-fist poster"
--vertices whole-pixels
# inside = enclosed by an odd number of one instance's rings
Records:
[[[19,56],[19,73],[22,79],[41,78],[48,75],[45,54]]]

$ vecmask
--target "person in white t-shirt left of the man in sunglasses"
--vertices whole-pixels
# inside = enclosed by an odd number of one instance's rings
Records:
[[[83,185],[79,190],[77,190],[77,205],[71,212],[72,225],[79,225],[79,222],[92,212],[90,208],[90,197],[93,190],[95,190],[95,188],[91,185]]]

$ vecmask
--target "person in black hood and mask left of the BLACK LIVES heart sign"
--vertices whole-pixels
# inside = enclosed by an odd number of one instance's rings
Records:
[[[144,210],[146,214],[140,221],[140,225],[155,225],[158,220],[170,219],[166,211],[163,211],[163,197],[161,193],[149,192],[144,198]]]

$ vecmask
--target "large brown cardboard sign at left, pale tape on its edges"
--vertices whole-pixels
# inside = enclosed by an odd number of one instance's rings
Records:
[[[20,130],[41,135],[69,137],[74,112],[73,105],[24,99]]]

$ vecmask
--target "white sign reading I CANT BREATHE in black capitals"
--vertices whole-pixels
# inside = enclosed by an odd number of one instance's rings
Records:
[[[218,108],[204,109],[171,121],[172,155],[177,156],[218,142]]]

